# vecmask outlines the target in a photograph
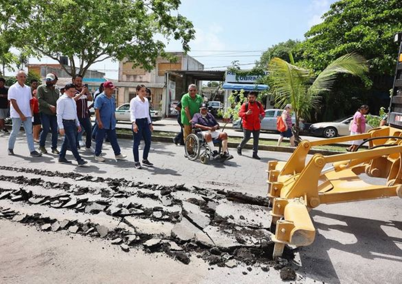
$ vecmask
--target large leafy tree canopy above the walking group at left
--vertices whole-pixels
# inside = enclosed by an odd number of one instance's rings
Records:
[[[4,4],[4,5],[3,5]],[[195,30],[178,14],[180,0],[1,0],[0,23],[9,42],[36,56],[60,62],[68,56],[75,76],[112,58],[147,70],[158,56],[168,57],[155,35],[181,40],[189,51]],[[77,62],[77,63],[76,63]]]

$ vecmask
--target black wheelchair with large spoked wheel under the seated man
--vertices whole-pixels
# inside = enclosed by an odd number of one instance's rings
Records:
[[[213,139],[213,144],[219,144],[218,157],[222,154],[222,140]],[[185,140],[184,146],[187,158],[191,161],[195,161],[198,158],[201,163],[206,164],[208,161],[220,160],[222,163],[225,160],[216,159],[212,156],[211,148],[209,148],[207,142],[205,141],[201,129],[193,129],[193,133],[189,134]],[[228,150],[229,152],[229,150]]]

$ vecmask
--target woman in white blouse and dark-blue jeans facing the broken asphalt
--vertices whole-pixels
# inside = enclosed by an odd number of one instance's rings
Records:
[[[138,146],[141,138],[144,138],[145,147],[142,154],[142,164],[148,167],[153,166],[148,161],[148,153],[151,148],[151,132],[154,130],[149,111],[149,102],[146,98],[146,87],[139,84],[136,88],[137,96],[130,101],[130,120],[133,124],[133,154],[136,169],[141,169],[139,163]]]

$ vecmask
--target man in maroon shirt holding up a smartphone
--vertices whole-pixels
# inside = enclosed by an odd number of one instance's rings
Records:
[[[77,135],[77,147],[80,148],[80,146],[84,146],[83,144],[80,144],[82,134],[85,131],[85,149],[87,152],[94,153],[95,150],[92,148],[92,123],[91,119],[89,117],[89,112],[88,112],[88,101],[92,101],[92,94],[88,90],[88,84],[85,84],[82,86],[82,75],[77,75],[74,80],[74,85],[76,88],[76,95],[74,97],[74,101],[77,103],[77,116],[78,120],[80,121],[81,125],[81,131],[78,132]]]

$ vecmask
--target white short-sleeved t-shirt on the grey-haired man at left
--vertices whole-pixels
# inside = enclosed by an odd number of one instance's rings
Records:
[[[16,100],[20,111],[26,117],[32,116],[31,104],[30,104],[32,95],[31,95],[31,88],[29,88],[29,86],[24,84],[24,86],[21,87],[21,85],[18,84],[18,82],[13,84],[8,89],[8,100],[11,102],[11,99]],[[14,109],[14,107],[12,106],[12,103],[10,103],[10,117],[11,118],[20,118],[20,115]]]

